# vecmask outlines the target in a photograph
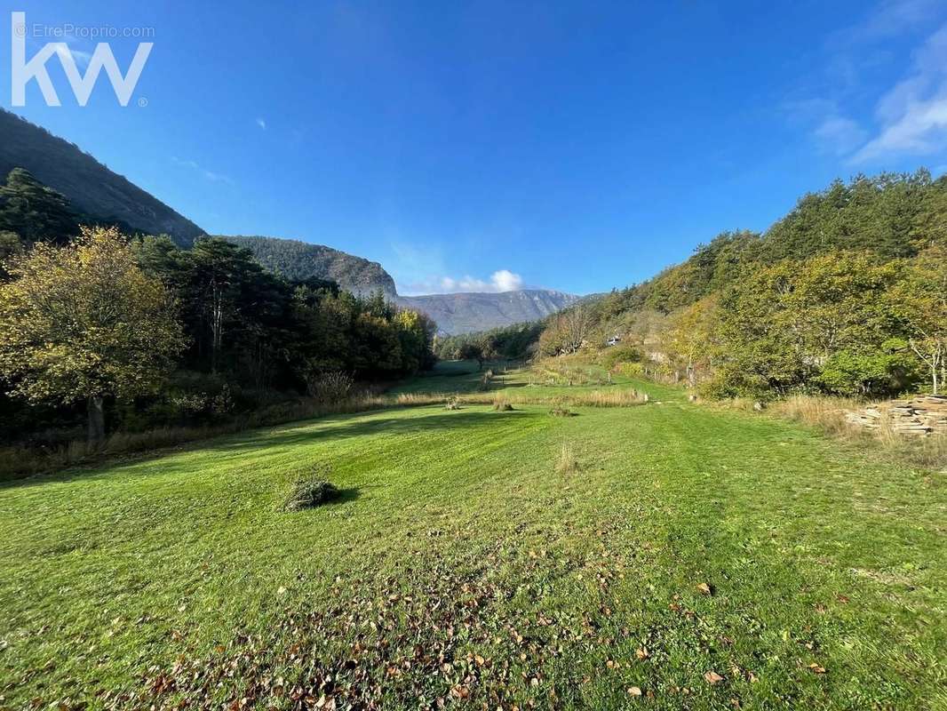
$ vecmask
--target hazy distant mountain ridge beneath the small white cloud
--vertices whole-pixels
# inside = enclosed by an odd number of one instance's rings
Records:
[[[577,299],[561,291],[523,289],[490,294],[398,297],[398,303],[423,311],[438,322],[440,331],[456,335],[545,319]]]

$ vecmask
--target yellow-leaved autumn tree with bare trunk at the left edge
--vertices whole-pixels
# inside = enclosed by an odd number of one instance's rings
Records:
[[[70,246],[39,243],[6,267],[0,376],[29,402],[85,400],[98,446],[103,400],[153,392],[184,347],[169,293],[116,228],[83,228]]]

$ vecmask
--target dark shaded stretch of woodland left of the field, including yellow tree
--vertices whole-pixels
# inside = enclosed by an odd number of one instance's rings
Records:
[[[435,324],[381,292],[286,280],[221,239],[183,249],[84,226],[70,239],[72,223],[56,233],[51,219],[65,210],[56,193],[42,197],[48,210],[13,211],[23,238],[5,233],[0,442],[75,441],[82,410],[96,449],[107,431],[200,430],[305,396],[331,407],[356,381],[433,363]]]

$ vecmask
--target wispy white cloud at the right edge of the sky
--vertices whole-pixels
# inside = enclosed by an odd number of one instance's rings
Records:
[[[947,24],[916,52],[912,73],[884,94],[875,116],[880,130],[853,162],[947,148]]]

